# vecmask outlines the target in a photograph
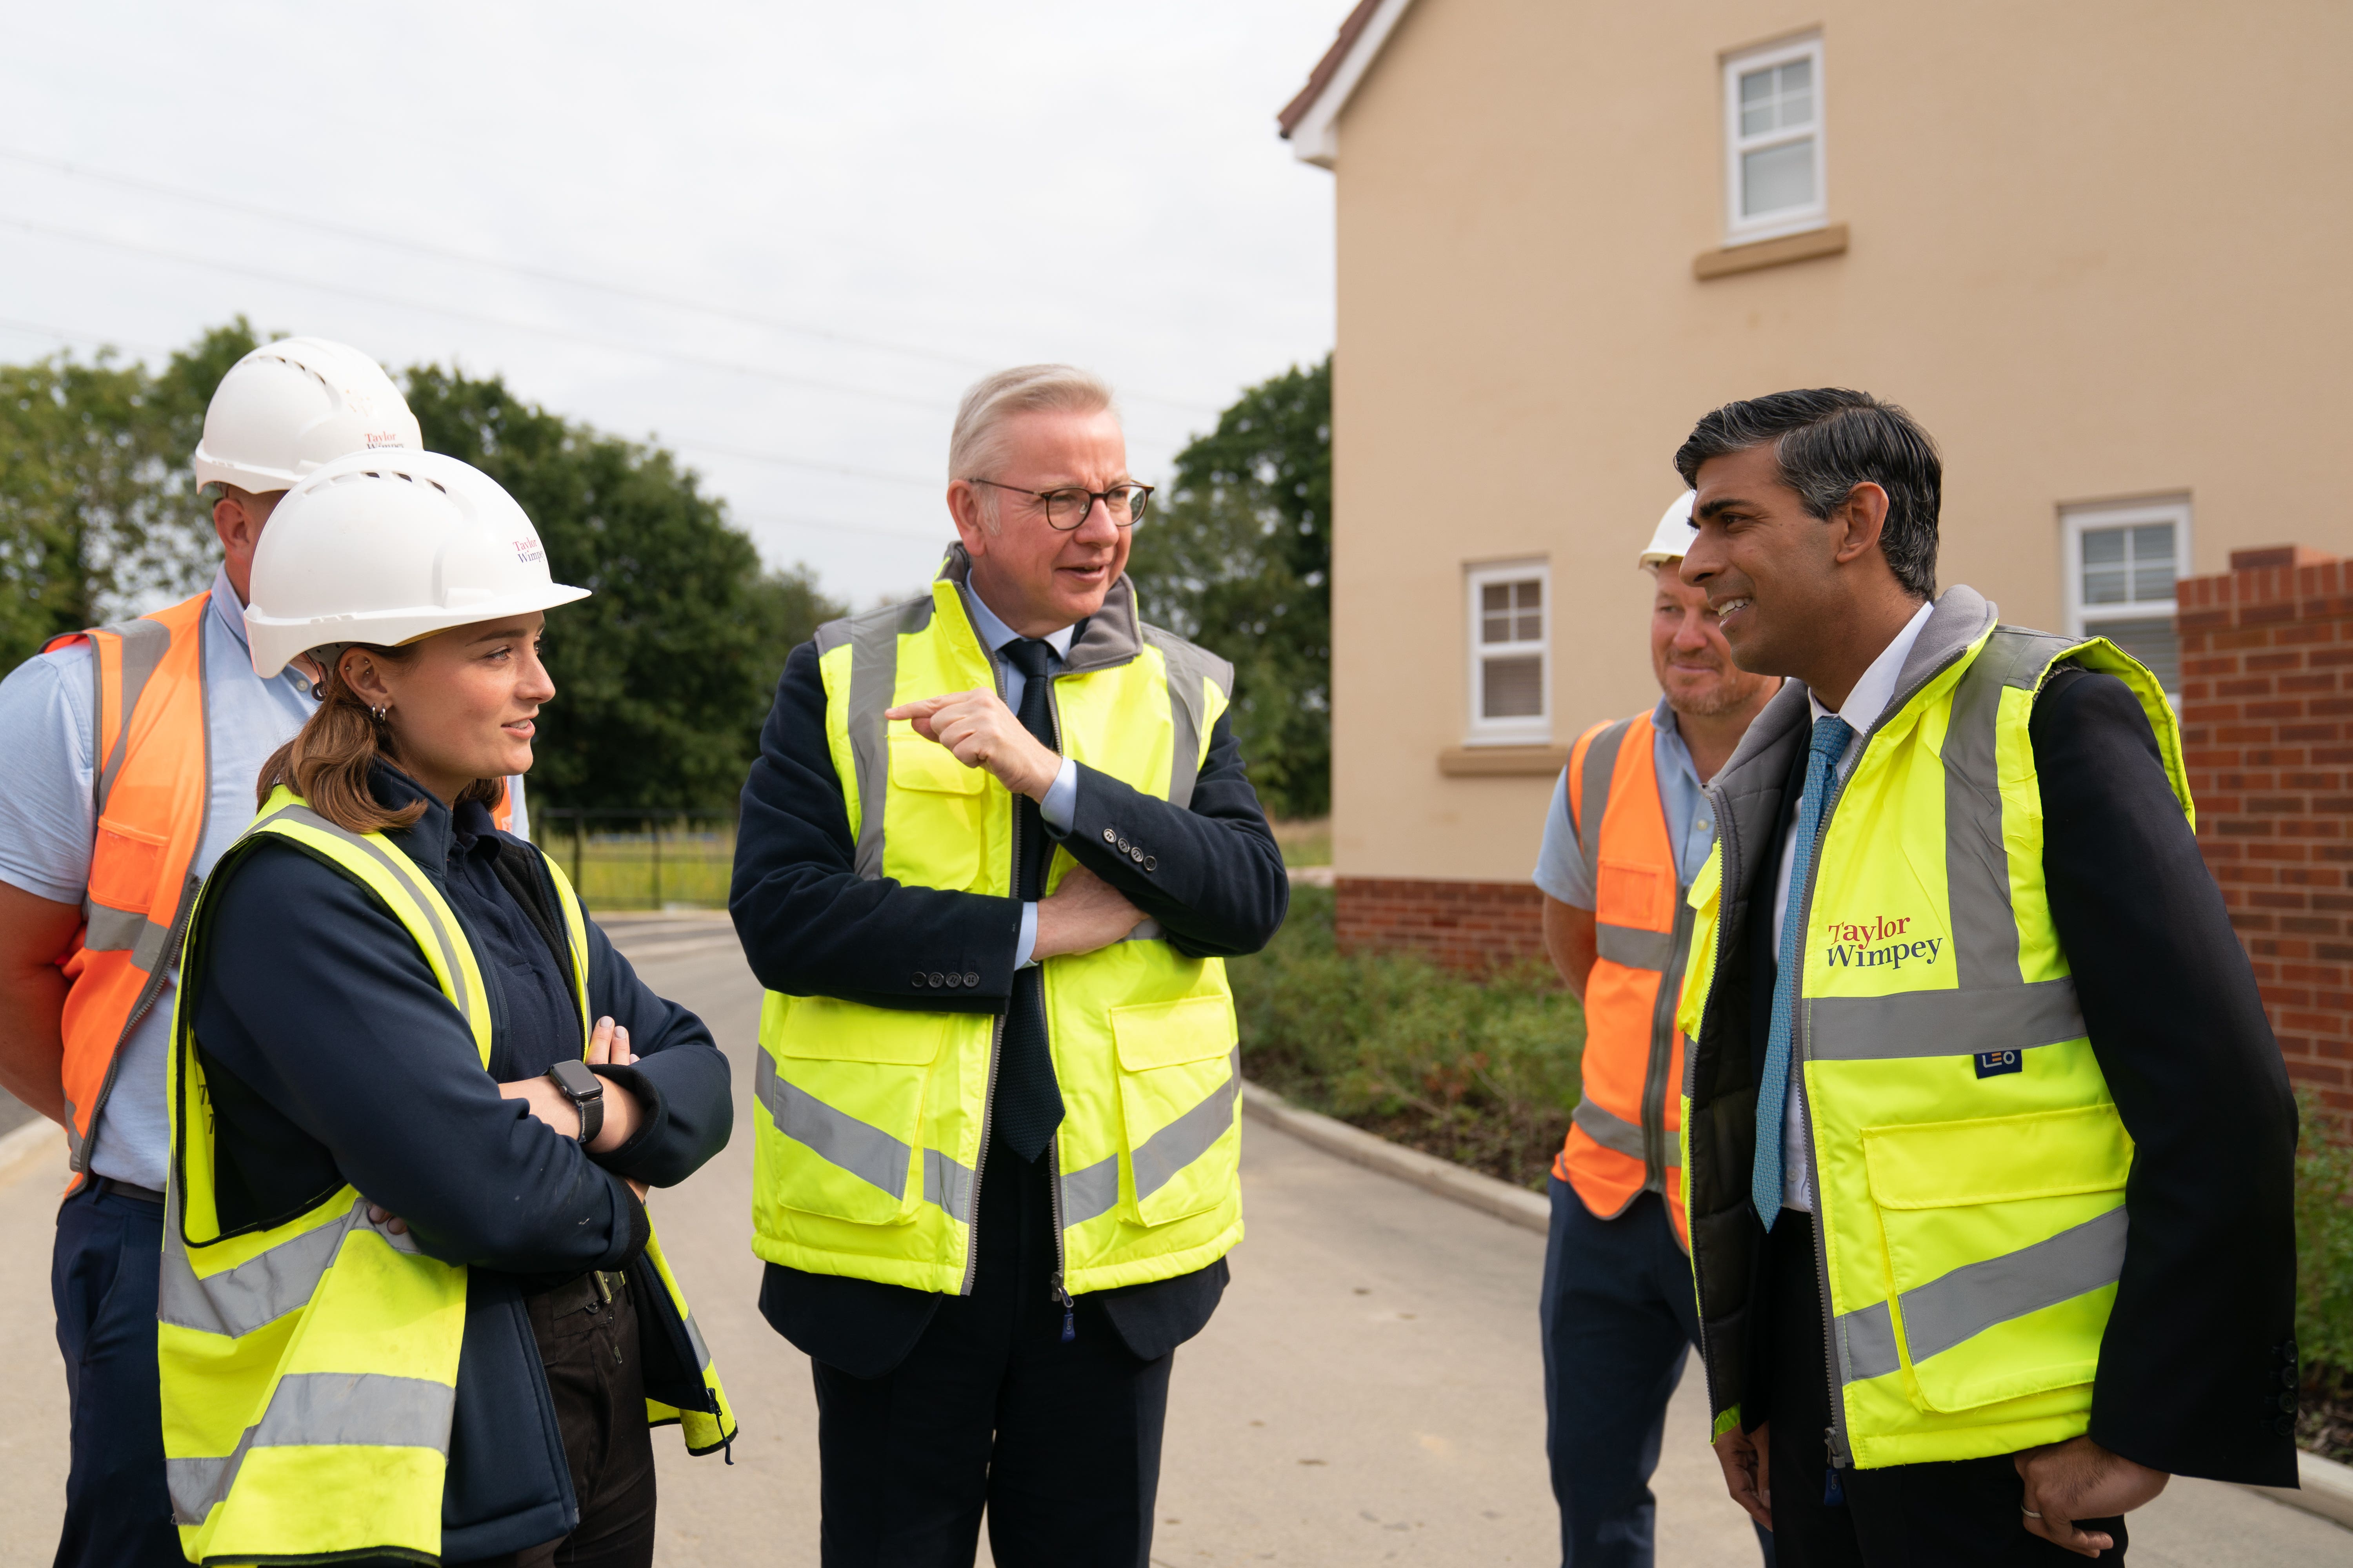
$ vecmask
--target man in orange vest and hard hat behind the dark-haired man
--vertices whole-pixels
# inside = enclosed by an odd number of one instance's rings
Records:
[[[1544,820],[1544,945],[1586,1004],[1584,1093],[1553,1159],[1544,1248],[1544,1410],[1560,1561],[1649,1568],[1666,1401],[1699,1340],[1678,1182],[1682,1037],[1675,994],[1692,936],[1682,893],[1715,823],[1701,785],[1781,686],[1732,663],[1706,595],[1675,562],[1692,496],[1659,520],[1649,661],[1666,696],[1595,724]],[[1772,1563],[1772,1535],[1758,1533]]]

